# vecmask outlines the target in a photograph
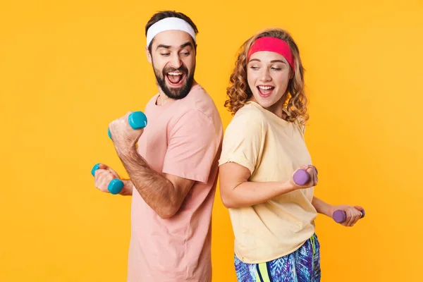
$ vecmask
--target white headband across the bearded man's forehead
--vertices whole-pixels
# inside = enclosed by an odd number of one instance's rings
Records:
[[[160,32],[166,30],[182,30],[191,35],[195,42],[195,31],[192,26],[181,18],[164,18],[154,23],[147,31],[147,46],[149,46],[152,39]]]

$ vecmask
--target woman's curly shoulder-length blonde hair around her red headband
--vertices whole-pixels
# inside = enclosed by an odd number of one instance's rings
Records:
[[[276,37],[287,42],[290,46],[295,63],[295,72],[293,78],[288,82],[287,91],[283,97],[283,111],[286,113],[287,121],[296,120],[305,124],[309,116],[307,114],[307,97],[304,91],[304,68],[301,63],[300,51],[293,37],[286,30],[280,28],[270,28],[258,32],[256,35],[247,39],[240,47],[238,59],[235,61],[235,68],[230,78],[230,85],[226,88],[228,100],[225,101],[225,107],[234,115],[246,102],[252,97],[250,86],[247,82],[247,54],[252,43],[260,37]],[[294,70],[293,70],[294,71]]]

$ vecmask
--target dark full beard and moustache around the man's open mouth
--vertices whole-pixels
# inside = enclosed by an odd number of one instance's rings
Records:
[[[164,68],[162,71],[159,71],[157,68],[154,68],[154,75],[156,76],[157,83],[159,84],[161,90],[166,94],[167,97],[171,99],[183,99],[187,97],[188,93],[191,90],[192,82],[194,82],[194,73],[195,73],[195,65],[192,67],[192,73],[188,76],[188,68],[184,65],[180,66],[179,68]],[[166,85],[166,74],[171,73],[173,71],[179,71],[183,73],[183,85],[180,87],[168,87]]]

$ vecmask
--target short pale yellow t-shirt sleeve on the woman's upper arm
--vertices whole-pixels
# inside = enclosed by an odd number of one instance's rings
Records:
[[[255,112],[235,116],[226,128],[219,166],[235,162],[252,174],[261,158],[266,128],[261,115]]]

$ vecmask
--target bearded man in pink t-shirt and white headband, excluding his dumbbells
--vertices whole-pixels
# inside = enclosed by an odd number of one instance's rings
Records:
[[[148,102],[144,130],[128,114],[109,125],[133,195],[128,281],[212,281],[211,217],[223,125],[194,79],[197,27],[183,13],[156,13],[145,27],[147,59],[159,93]],[[138,146],[136,147],[136,143]],[[96,187],[118,175],[102,164]]]

